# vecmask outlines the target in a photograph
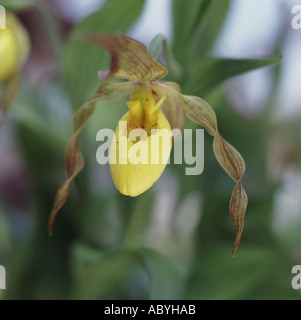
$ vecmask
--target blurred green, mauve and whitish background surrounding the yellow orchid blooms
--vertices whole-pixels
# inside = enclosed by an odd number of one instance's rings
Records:
[[[0,131],[0,299],[300,299],[301,29],[287,0],[0,1],[30,39]],[[301,21],[300,25],[301,25]],[[0,37],[1,37],[0,30]],[[118,193],[95,158],[101,128],[124,101],[97,105],[80,138],[85,168],[52,237],[47,224],[65,179],[72,115],[99,86],[109,55],[85,32],[168,39],[168,80],[208,101],[243,156],[249,197],[235,258],[228,207],[234,182],[205,134],[205,169],[170,164],[155,185]],[[0,61],[0,68],[3,62]],[[10,87],[1,84],[1,94]],[[185,128],[197,128],[186,120]]]

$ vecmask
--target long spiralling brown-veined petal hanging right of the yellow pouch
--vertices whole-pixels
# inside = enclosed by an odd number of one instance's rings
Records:
[[[241,184],[241,178],[245,172],[245,162],[237,150],[219,134],[216,115],[207,102],[199,97],[182,95],[166,83],[160,83],[160,87],[167,95],[173,94],[178,98],[185,115],[189,119],[204,127],[209,134],[214,136],[213,150],[215,157],[221,167],[236,182],[229,204],[230,216],[237,230],[232,253],[234,256],[241,239],[248,204],[247,194]]]

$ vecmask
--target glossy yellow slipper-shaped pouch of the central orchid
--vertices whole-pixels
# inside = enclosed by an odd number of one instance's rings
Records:
[[[172,142],[169,122],[160,108],[163,101],[163,97],[153,95],[150,87],[142,84],[131,95],[131,101],[127,102],[129,112],[118,123],[110,152],[110,170],[116,188],[124,195],[135,197],[145,192],[165,169]],[[122,124],[125,124],[125,130],[122,130]],[[136,136],[134,141],[130,139],[134,130],[138,131],[139,141]],[[155,134],[151,134],[154,130]],[[120,135],[124,136],[124,141],[120,141]],[[119,152],[122,143],[126,146],[124,161]],[[157,153],[157,162],[152,151]],[[136,159],[137,153],[139,159]]]

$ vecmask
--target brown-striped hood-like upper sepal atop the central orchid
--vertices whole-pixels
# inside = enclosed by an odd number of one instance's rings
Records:
[[[111,65],[108,72],[101,72],[104,81],[108,77],[149,82],[160,80],[167,69],[155,60],[140,42],[124,35],[88,35],[87,39],[108,50]]]

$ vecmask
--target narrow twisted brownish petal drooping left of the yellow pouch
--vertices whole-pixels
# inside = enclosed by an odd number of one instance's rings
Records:
[[[56,214],[62,208],[68,198],[70,183],[84,167],[84,159],[78,148],[78,138],[87,121],[94,113],[95,104],[97,102],[112,101],[127,96],[135,88],[137,88],[137,85],[138,83],[134,82],[104,83],[96,91],[95,95],[75,112],[73,117],[74,133],[69,140],[66,149],[65,165],[67,179],[60,186],[55,196],[54,205],[48,224],[48,230],[50,234],[52,233],[52,227]]]

